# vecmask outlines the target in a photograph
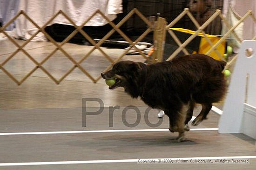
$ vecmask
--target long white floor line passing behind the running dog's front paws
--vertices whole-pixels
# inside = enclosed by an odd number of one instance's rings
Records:
[[[218,128],[194,128],[190,131],[217,131]],[[121,129],[121,130],[93,130],[93,131],[56,131],[56,132],[6,132],[0,135],[39,135],[39,134],[65,134],[65,133],[106,133],[106,132],[163,132],[169,129]]]

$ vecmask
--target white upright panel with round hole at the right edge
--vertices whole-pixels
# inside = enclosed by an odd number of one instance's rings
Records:
[[[249,48],[253,53],[248,57],[246,50]],[[223,106],[219,132],[244,133],[256,139],[256,41],[246,40],[241,44]]]

